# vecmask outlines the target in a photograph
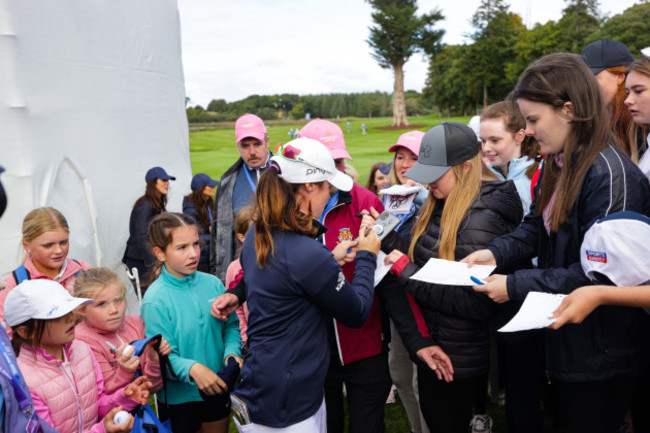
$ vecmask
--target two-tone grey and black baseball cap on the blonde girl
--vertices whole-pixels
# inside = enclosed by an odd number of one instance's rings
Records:
[[[418,162],[404,176],[419,183],[440,179],[451,167],[476,156],[476,134],[467,125],[443,122],[422,137]]]

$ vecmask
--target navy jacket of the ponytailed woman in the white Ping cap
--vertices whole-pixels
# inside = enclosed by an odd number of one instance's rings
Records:
[[[327,323],[365,322],[374,296],[376,256],[359,251],[350,284],[327,247],[295,232],[273,230],[274,254],[257,265],[252,227],[242,247],[249,352],[235,394],[253,422],[286,427],[314,415],[323,402],[330,362]]]

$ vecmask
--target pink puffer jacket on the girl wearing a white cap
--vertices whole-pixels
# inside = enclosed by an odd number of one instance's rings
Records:
[[[104,392],[101,370],[86,343],[75,340],[63,348],[72,374],[43,349],[23,346],[18,356],[34,409],[52,427],[61,433],[103,433],[98,421],[112,408],[131,410],[138,405],[124,396],[124,388]]]

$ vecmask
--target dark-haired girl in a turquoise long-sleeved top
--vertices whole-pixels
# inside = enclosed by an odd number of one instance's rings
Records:
[[[210,315],[212,301],[225,289],[215,276],[196,272],[201,248],[192,218],[158,215],[148,236],[158,277],[143,299],[142,317],[147,336],[162,334],[169,342],[175,373],[159,393],[169,405],[161,406],[161,419],[171,418],[174,433],[226,433],[230,389],[216,372],[231,357],[241,365],[237,316],[223,323]]]

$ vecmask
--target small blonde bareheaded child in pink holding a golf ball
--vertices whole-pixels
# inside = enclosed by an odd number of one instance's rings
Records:
[[[133,380],[138,366],[151,379],[152,391],[162,388],[158,352],[149,346],[148,353],[138,357],[123,353],[132,341],[144,338],[144,323],[139,316],[126,315],[126,288],[117,274],[108,268],[91,268],[77,278],[74,296],[95,302],[79,308],[83,320],[77,326],[77,339],[87,343],[104,377],[106,392],[111,393]],[[111,352],[107,343],[117,347]],[[163,338],[160,354],[169,355],[171,348]]]

